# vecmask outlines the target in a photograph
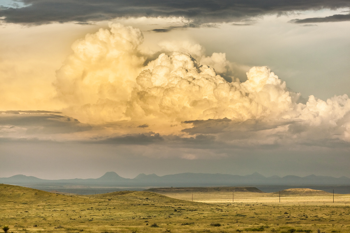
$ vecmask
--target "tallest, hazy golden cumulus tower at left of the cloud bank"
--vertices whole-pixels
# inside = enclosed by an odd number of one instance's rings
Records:
[[[57,71],[57,97],[67,104],[67,112],[82,112],[79,116],[86,122],[125,119],[135,77],[145,61],[138,50],[141,31],[110,26],[76,41],[73,54]]]

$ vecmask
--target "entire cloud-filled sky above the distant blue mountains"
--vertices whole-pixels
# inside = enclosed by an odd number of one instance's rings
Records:
[[[2,0],[0,177],[350,177],[350,1]]]

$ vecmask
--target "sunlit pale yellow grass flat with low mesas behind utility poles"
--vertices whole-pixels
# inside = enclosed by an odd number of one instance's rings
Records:
[[[247,190],[248,189],[248,190]],[[280,193],[265,193],[252,187],[216,187],[216,188],[154,188],[147,191],[187,201],[206,203],[270,203],[283,205],[346,205],[350,194],[333,194],[313,189],[287,189]],[[260,192],[259,192],[260,191]]]

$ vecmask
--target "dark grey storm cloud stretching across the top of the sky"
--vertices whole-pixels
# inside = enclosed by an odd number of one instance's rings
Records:
[[[22,0],[21,8],[2,7],[5,22],[46,24],[111,20],[116,17],[183,16],[195,24],[233,22],[266,14],[350,7],[348,0]],[[332,16],[330,16],[332,17]]]

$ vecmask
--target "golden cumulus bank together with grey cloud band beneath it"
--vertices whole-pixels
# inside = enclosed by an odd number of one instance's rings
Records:
[[[54,82],[62,113],[3,111],[2,140],[159,144],[218,154],[233,147],[349,147],[347,95],[311,95],[301,103],[268,67],[252,67],[240,81],[239,66],[225,53],[207,56],[186,41],[146,52],[142,41],[139,29],[121,24],[76,41]]]

